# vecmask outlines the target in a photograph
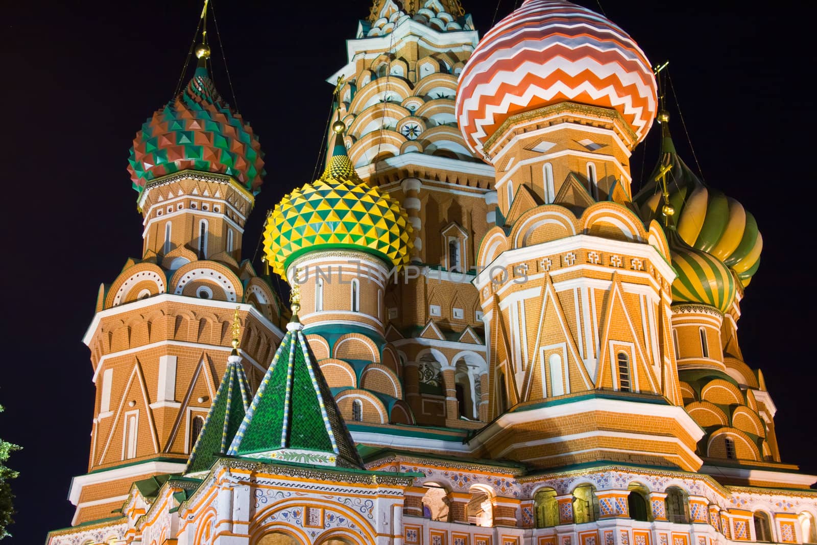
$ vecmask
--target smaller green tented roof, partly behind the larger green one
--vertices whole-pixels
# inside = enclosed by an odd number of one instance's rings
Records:
[[[226,454],[250,406],[251,390],[239,355],[230,355],[227,370],[212,400],[199,439],[190,451],[185,473],[207,471],[217,457]]]

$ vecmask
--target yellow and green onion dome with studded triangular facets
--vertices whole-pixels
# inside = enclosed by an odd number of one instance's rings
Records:
[[[395,199],[360,180],[346,156],[345,129],[333,124],[335,145],[324,174],[284,196],[267,216],[264,251],[283,277],[293,259],[320,249],[368,252],[397,269],[408,264],[408,216]]]

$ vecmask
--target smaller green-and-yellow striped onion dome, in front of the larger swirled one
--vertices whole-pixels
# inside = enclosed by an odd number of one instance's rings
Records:
[[[721,312],[734,301],[734,276],[723,261],[692,248],[672,226],[666,229],[672,266],[678,276],[672,282],[673,303],[700,303]]]

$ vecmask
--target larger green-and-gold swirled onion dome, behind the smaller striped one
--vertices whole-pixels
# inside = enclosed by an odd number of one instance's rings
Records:
[[[668,120],[668,116],[667,116]],[[742,287],[748,286],[760,266],[763,237],[757,221],[743,205],[699,180],[678,156],[667,122],[663,123],[662,157],[650,182],[633,199],[641,207],[641,217],[661,221],[661,190],[655,181],[660,168],[667,172],[669,203],[676,210],[677,234],[693,248],[708,252],[737,275]]]

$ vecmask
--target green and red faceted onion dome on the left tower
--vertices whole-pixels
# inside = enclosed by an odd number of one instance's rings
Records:
[[[136,133],[127,172],[139,192],[159,176],[191,169],[233,176],[256,194],[265,174],[263,157],[252,127],[199,66],[187,87]]]

